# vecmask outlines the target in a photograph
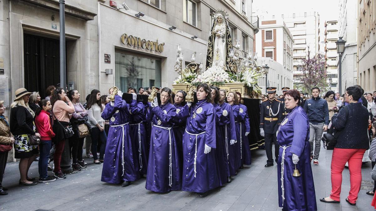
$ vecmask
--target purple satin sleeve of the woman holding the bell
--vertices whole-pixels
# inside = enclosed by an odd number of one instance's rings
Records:
[[[305,138],[307,137],[308,132],[308,118],[307,115],[305,115],[302,112],[297,113],[294,116],[293,121],[293,144],[291,145],[290,152],[298,155],[302,155],[304,146],[305,146]]]

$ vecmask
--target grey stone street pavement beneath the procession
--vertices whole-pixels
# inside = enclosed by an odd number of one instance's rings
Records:
[[[361,190],[357,206],[345,199],[350,190],[349,170],[343,173],[340,204],[325,204],[320,197],[329,196],[331,190],[330,163],[332,151],[321,148],[320,165],[313,166],[318,210],[373,210],[372,196]],[[200,198],[185,191],[158,194],[145,189],[145,179],[129,187],[106,184],[100,181],[102,165],[86,159],[88,168],[67,175],[67,179],[39,183],[31,187],[18,187],[18,163],[9,163],[5,169],[3,185],[9,188],[7,196],[0,196],[1,210],[281,210],[278,207],[277,167],[265,168],[264,150],[252,151],[253,164],[246,166],[230,184]],[[362,168],[363,189],[373,187],[371,164]],[[38,176],[38,162],[30,168],[30,175]],[[371,182],[367,182],[371,181]],[[367,186],[368,184],[368,186]]]

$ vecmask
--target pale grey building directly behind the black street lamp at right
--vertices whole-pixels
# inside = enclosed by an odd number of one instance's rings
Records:
[[[341,58],[341,90],[344,93],[345,87],[358,83],[358,3],[340,0],[339,6],[338,33],[346,41]]]

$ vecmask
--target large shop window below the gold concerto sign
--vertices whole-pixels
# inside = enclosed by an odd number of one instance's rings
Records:
[[[123,92],[129,87],[160,87],[161,60],[115,52],[115,86]]]

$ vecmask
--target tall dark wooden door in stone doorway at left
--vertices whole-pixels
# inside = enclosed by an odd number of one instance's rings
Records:
[[[25,88],[39,91],[42,99],[48,86],[60,83],[59,40],[24,34]]]

